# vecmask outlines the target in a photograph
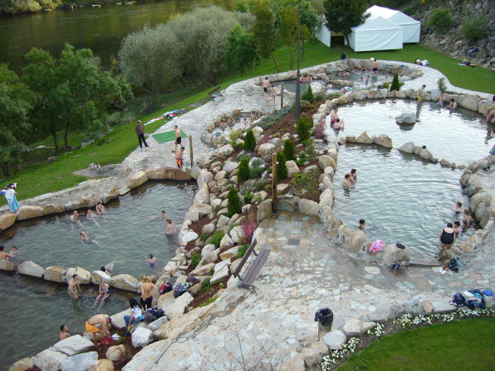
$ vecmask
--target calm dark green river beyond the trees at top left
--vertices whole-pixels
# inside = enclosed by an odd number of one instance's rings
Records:
[[[110,54],[117,54],[122,38],[146,25],[165,23],[175,13],[185,13],[197,6],[230,6],[226,0],[165,0],[154,4],[82,7],[6,16],[0,18],[0,62],[20,73],[24,54],[39,47],[58,55],[69,42],[77,49],[89,48],[103,64]],[[124,4],[124,3],[123,3]],[[146,56],[143,56],[146,57]]]

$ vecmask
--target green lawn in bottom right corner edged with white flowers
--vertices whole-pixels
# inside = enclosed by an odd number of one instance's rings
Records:
[[[338,371],[495,370],[495,318],[464,319],[385,336]]]

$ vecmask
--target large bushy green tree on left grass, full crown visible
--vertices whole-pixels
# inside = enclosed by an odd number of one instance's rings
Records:
[[[57,60],[33,48],[25,58],[30,62],[23,69],[25,80],[38,94],[42,116],[64,127],[66,150],[70,129],[86,131],[94,138],[115,101],[132,98],[129,83],[122,76],[113,78],[109,72],[101,71],[99,59],[90,49],[75,50],[66,44]],[[47,76],[51,81],[45,87]]]

